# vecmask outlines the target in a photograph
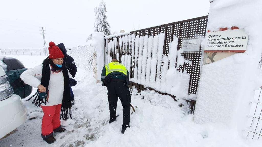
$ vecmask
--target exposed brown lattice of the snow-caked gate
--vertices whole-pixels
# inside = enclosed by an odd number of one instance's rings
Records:
[[[197,38],[197,37],[205,37],[206,34],[206,26],[207,26],[207,21],[208,21],[208,15],[207,16],[202,16],[198,18],[193,18],[193,19],[188,19],[188,20],[183,20],[183,21],[178,21],[178,22],[173,22],[170,24],[165,24],[161,26],[155,26],[155,27],[150,27],[142,30],[137,30],[137,31],[132,31],[130,34],[124,34],[119,36],[112,36],[105,37],[105,48],[107,47],[108,43],[110,40],[113,40],[114,38],[117,39],[117,44],[116,44],[116,49],[110,49],[110,52],[108,52],[108,49],[105,49],[106,56],[110,56],[112,58],[116,58],[116,54],[118,53],[119,56],[123,55],[123,51],[120,48],[120,43],[119,43],[119,38],[126,36],[126,35],[131,35],[134,34],[135,36],[155,36],[158,35],[159,33],[165,33],[165,41],[164,41],[164,48],[163,48],[163,54],[168,55],[169,52],[169,43],[170,41],[173,41],[173,35],[178,37],[178,45],[177,45],[177,50],[179,50],[182,46],[182,39],[184,38]],[[135,42],[134,42],[135,44]],[[128,55],[134,56],[134,52],[132,52],[132,42],[127,42],[127,50],[124,49],[124,52],[126,52]],[[132,54],[133,53],[133,54]],[[200,78],[200,60],[201,60],[201,47],[199,49],[199,52],[184,52],[182,53],[185,59],[192,61],[192,65],[189,65],[188,63],[184,64],[183,66],[180,66],[178,71],[184,72],[184,70],[187,71],[187,73],[190,74],[190,80],[189,80],[189,87],[188,87],[188,94],[196,94],[197,89],[198,89],[198,81]],[[119,58],[121,62],[121,58]],[[135,60],[133,60],[133,63]],[[130,69],[130,77],[133,77],[134,73],[134,67],[135,64]],[[161,72],[161,70],[160,70]],[[143,85],[139,83],[134,83],[131,82],[131,87],[135,86],[135,88],[138,89],[140,92],[141,90],[146,89]],[[150,88],[150,90],[155,90],[153,88]],[[156,90],[155,90],[156,91]],[[156,91],[159,92],[159,91]],[[167,94],[167,93],[162,93],[161,94]],[[170,94],[168,94],[170,95]],[[170,95],[175,99],[175,95]],[[191,112],[194,112],[194,105],[195,101],[188,101],[188,104],[191,105]]]

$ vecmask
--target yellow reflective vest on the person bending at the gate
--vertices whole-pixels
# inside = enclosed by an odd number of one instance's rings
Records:
[[[127,69],[125,66],[119,62],[110,62],[106,66],[106,76],[114,71],[122,72],[127,75]]]

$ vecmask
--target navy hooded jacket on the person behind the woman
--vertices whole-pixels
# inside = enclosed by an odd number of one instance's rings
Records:
[[[63,43],[58,44],[57,47],[59,47],[59,49],[61,49],[61,51],[63,52],[65,56],[64,61],[66,63],[67,69],[74,78],[75,74],[77,73],[77,66],[75,65],[74,58],[66,53],[66,49]]]

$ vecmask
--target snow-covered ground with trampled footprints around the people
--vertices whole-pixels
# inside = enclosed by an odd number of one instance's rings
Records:
[[[8,56],[19,59],[25,67],[42,63],[43,56]],[[84,63],[83,63],[84,64]],[[23,99],[28,108],[28,120],[12,134],[0,140],[1,147],[7,146],[195,146],[195,147],[251,147],[261,145],[258,140],[241,138],[238,132],[225,129],[219,123],[195,124],[193,115],[185,115],[185,108],[167,95],[150,91],[132,94],[131,104],[135,112],[130,118],[130,128],[121,134],[122,106],[117,106],[116,122],[109,120],[107,89],[96,83],[92,72],[78,69],[77,86],[73,87],[75,105],[72,109],[73,120],[62,120],[67,131],[54,133],[56,142],[47,144],[41,138],[43,112],[30,101]],[[36,89],[34,89],[36,91]],[[143,97],[142,97],[143,96]]]

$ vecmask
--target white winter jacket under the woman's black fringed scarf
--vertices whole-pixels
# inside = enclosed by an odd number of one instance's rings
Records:
[[[49,67],[51,71],[50,64]],[[24,71],[20,77],[26,84],[37,88],[41,84],[42,71],[43,71],[43,64]],[[70,73],[68,73],[68,75],[69,78],[73,78]],[[63,95],[64,95],[63,71],[61,72],[51,71],[48,90],[49,92],[47,97],[49,103],[43,104],[43,106],[53,106],[53,105],[62,104]]]

